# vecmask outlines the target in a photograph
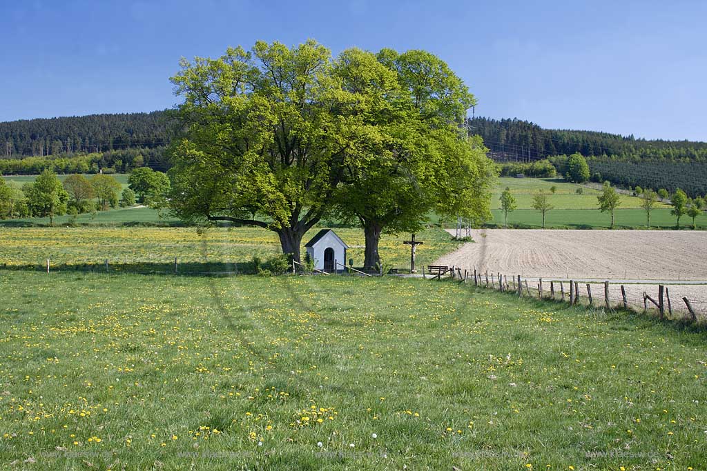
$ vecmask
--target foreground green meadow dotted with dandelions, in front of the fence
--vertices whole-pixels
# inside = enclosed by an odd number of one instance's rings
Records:
[[[11,469],[707,463],[707,335],[674,324],[419,279],[0,282]]]

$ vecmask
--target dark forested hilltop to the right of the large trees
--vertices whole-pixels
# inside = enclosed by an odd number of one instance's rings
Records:
[[[707,142],[636,139],[595,131],[543,129],[519,119],[474,118],[469,133],[479,134],[496,160],[542,159],[549,155],[607,156],[613,160],[707,162]]]

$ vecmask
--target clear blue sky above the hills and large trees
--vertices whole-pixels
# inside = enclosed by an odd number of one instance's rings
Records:
[[[707,141],[704,1],[0,0],[0,121],[168,108],[181,56],[308,37],[438,54],[477,115]]]

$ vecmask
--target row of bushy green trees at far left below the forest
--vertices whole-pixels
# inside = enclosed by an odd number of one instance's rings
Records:
[[[137,201],[163,206],[170,189],[167,175],[146,167],[132,172],[128,184],[121,193],[122,185],[106,174],[72,174],[62,182],[49,169],[21,187],[0,177],[0,217],[49,217],[54,224],[57,215],[128,207]]]

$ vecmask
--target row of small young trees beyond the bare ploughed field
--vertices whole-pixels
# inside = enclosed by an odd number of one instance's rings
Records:
[[[645,226],[650,227],[650,212],[656,208],[659,199],[667,198],[668,193],[664,189],[661,190],[662,195],[659,195],[655,191],[641,190],[641,208],[645,210]],[[506,190],[501,193],[501,210],[506,218],[506,227],[508,227],[508,213],[512,213],[518,205],[516,204],[513,194],[510,193],[510,189],[507,187]],[[621,206],[621,196],[617,193],[616,189],[608,181],[604,181],[602,187],[602,193],[597,196],[598,208],[602,213],[609,213],[611,215],[611,225],[614,227],[614,211]],[[701,215],[703,211],[707,211],[707,199],[706,198],[689,198],[684,191],[677,189],[675,193],[670,196],[670,204],[672,205],[672,210],[670,213],[677,217],[676,225],[680,228],[680,218],[684,215],[692,218],[692,227],[695,227],[695,218]],[[534,194],[532,199],[532,208],[538,210],[542,214],[542,228],[545,228],[545,215],[549,210],[554,209],[554,206],[549,202],[548,195],[544,191],[538,191]]]

